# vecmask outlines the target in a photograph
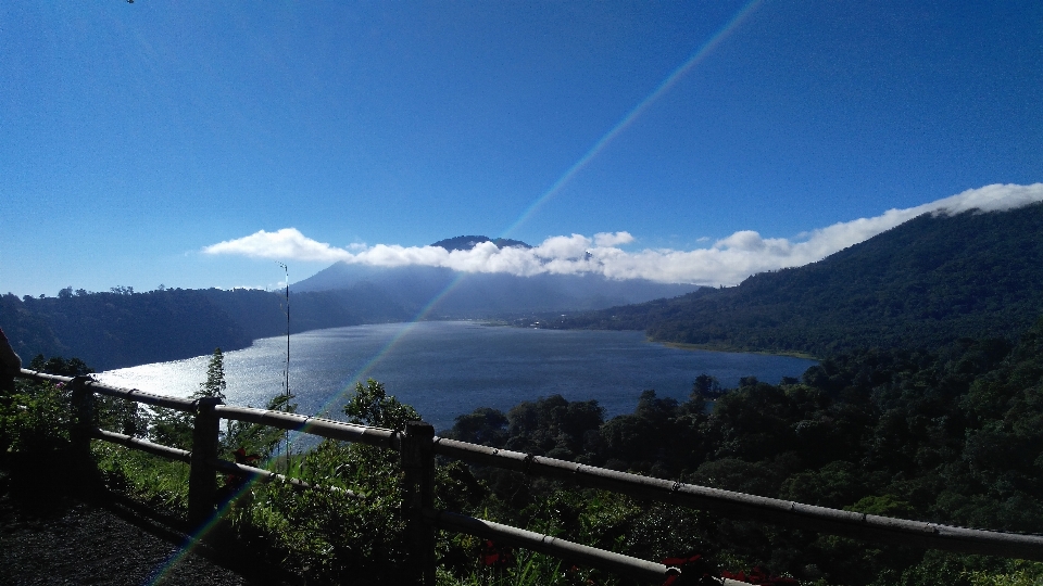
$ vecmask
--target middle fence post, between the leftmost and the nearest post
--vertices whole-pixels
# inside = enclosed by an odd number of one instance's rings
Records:
[[[221,418],[214,412],[214,406],[221,404],[217,397],[202,397],[196,403],[192,459],[188,473],[188,523],[193,527],[206,523],[214,514],[217,477],[208,460],[217,457]]]

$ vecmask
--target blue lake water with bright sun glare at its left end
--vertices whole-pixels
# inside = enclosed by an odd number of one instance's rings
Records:
[[[285,337],[225,353],[227,402],[263,407],[281,392]],[[110,370],[106,384],[189,396],[205,379],[209,356]],[[684,400],[700,373],[736,386],[753,375],[778,383],[815,361],[786,356],[683,351],[645,341],[642,332],[535,330],[470,321],[423,321],[334,328],[290,337],[290,390],[298,412],[341,418],[345,391],[360,378],[385,383],[442,430],[477,407],[504,411],[560,394],[596,399],[606,417],[630,412],[646,388]]]

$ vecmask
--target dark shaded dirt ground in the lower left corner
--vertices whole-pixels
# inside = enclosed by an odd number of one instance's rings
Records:
[[[264,560],[188,544],[181,521],[109,494],[22,486],[0,470],[2,585],[301,585]]]

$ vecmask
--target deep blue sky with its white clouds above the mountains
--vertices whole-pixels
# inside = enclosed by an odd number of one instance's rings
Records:
[[[0,55],[18,295],[493,270],[422,249],[460,234],[618,278],[708,255],[652,276],[731,283],[850,244],[818,245],[837,225],[1043,181],[1036,1],[25,2]]]

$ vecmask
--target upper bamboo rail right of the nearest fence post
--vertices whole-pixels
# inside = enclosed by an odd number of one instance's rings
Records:
[[[971,530],[802,505],[694,484],[653,479],[519,451],[435,438],[435,454],[531,476],[568,481],[636,498],[810,531],[960,553],[1043,561],[1043,536]]]

